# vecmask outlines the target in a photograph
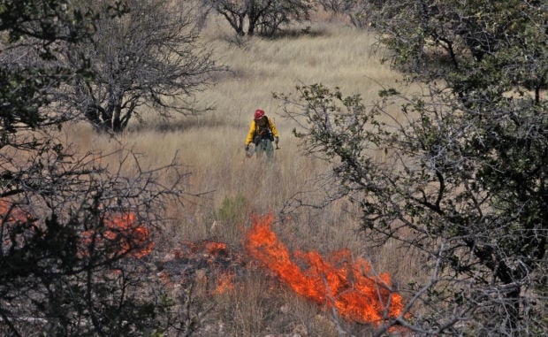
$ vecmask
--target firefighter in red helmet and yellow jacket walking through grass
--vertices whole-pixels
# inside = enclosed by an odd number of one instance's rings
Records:
[[[249,132],[247,133],[246,138],[246,153],[249,155],[249,144],[254,142],[255,152],[257,157],[261,157],[263,152],[266,153],[267,159],[270,161],[274,157],[274,148],[272,147],[272,142],[276,143],[278,148],[278,131],[272,119],[269,119],[264,114],[263,110],[257,109],[255,111],[255,118],[251,121],[249,126]]]

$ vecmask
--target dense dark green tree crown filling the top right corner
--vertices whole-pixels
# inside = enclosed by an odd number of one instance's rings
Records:
[[[427,80],[454,80],[461,95],[497,83],[504,91],[529,88],[538,100],[546,88],[547,10],[541,1],[366,2],[371,24],[383,33],[379,42],[394,51],[392,61],[401,69]]]

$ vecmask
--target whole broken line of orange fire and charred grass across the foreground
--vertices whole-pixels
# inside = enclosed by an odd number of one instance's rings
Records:
[[[34,229],[42,228],[41,221],[19,207],[11,207],[7,201],[1,201],[0,215],[3,226],[32,220]],[[277,286],[281,284],[316,303],[318,308],[335,311],[348,322],[380,326],[400,316],[402,297],[392,290],[388,274],[372,273],[369,263],[354,258],[348,249],[328,256],[317,251],[290,251],[271,230],[272,220],[271,213],[252,217],[253,225],[242,241],[245,255],[221,241],[185,241],[162,261],[148,261],[156,264],[156,278],[167,288],[184,290],[202,285],[204,298],[229,294],[234,299],[238,294],[248,294],[242,278],[259,269],[273,276],[269,278],[269,298],[279,297]],[[150,255],[155,247],[148,229],[139,225],[133,213],[105,214],[101,224],[80,233],[80,257],[86,258],[97,249],[109,249],[118,256],[141,258]],[[4,240],[4,249],[6,243],[9,242]]]

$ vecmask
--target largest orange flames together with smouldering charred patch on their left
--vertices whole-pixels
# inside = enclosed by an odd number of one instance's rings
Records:
[[[270,281],[287,286],[320,309],[336,311],[348,322],[380,326],[400,316],[403,299],[392,289],[388,274],[371,272],[368,261],[353,257],[348,249],[328,256],[290,251],[271,230],[272,220],[271,214],[253,216],[253,226],[242,241],[245,255],[223,242],[185,242],[164,258],[160,277],[171,285],[207,284],[207,294],[229,293],[232,298],[246,292],[240,290],[245,285],[241,277],[259,269],[273,276]],[[269,292],[277,290],[275,285],[269,287]]]

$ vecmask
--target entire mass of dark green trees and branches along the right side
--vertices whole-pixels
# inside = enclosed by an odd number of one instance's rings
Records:
[[[544,335],[545,5],[376,5],[381,42],[394,65],[428,81],[426,94],[384,89],[367,107],[339,88],[304,86],[297,99],[280,96],[301,123],[295,134],[333,164],[330,197],[362,206],[367,243],[396,240],[429,257],[430,279],[408,289],[412,315],[401,324],[427,335]],[[450,62],[432,62],[440,57]],[[403,118],[387,112],[392,98]]]

